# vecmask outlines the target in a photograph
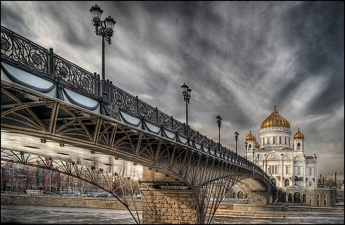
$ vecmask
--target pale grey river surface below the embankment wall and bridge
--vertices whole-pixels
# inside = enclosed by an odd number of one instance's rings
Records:
[[[139,212],[141,220],[141,212]],[[136,224],[127,210],[1,205],[1,224]],[[344,224],[344,217],[215,216],[211,224]]]

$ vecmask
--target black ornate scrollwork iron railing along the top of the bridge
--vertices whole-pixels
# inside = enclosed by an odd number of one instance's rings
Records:
[[[53,49],[45,49],[34,42],[16,34],[1,26],[1,61],[11,62],[30,66],[51,78],[60,78],[66,82],[66,87],[81,94],[89,94],[94,97],[102,97],[100,93],[100,75],[91,73],[85,69],[70,63],[68,60],[55,55]],[[184,136],[193,143],[203,145],[209,151],[220,153],[228,159],[236,159],[238,163],[249,163],[243,157],[235,154],[230,149],[221,146],[219,143],[209,139],[206,135],[187,127],[172,116],[159,111],[146,102],[132,96],[122,89],[114,86],[107,80],[104,89],[109,95],[108,102],[117,103],[119,109],[134,114],[139,118],[157,124],[164,129],[172,130],[180,136]],[[251,163],[251,162],[250,162]],[[254,166],[255,167],[255,166]],[[254,169],[253,169],[254,170]],[[256,170],[256,169],[255,169]]]

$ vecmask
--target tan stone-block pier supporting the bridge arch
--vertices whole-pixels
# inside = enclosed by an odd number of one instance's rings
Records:
[[[141,189],[143,224],[201,224],[198,199],[187,190]]]

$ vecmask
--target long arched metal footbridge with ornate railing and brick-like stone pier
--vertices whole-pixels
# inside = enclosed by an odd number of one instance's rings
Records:
[[[138,181],[146,187],[144,224],[210,223],[235,184],[250,190],[251,203],[277,194],[257,165],[2,26],[1,160],[56,170],[122,196],[126,180]]]

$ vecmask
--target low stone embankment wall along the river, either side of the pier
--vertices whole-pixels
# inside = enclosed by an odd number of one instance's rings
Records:
[[[1,204],[127,210],[121,202],[113,197],[28,196],[27,194],[1,193]],[[141,211],[141,199],[136,199],[136,206]],[[130,209],[135,210],[133,204]],[[221,202],[215,215],[242,217],[344,217],[344,206],[321,207],[292,204],[264,205]]]

